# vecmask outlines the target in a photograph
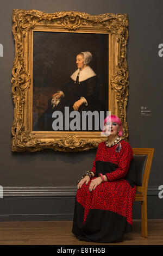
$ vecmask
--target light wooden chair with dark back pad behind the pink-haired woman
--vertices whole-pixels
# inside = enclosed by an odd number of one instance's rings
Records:
[[[134,148],[133,153],[137,168],[135,201],[141,201],[141,234],[147,237],[147,188],[154,149]]]

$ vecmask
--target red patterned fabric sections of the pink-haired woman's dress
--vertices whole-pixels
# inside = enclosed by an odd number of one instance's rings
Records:
[[[129,224],[132,221],[132,206],[135,199],[136,187],[131,187],[124,176],[127,174],[129,164],[133,158],[133,150],[129,143],[121,141],[120,153],[115,151],[116,146],[106,147],[102,142],[98,145],[92,172],[96,173],[96,161],[107,161],[118,165],[114,172],[106,173],[108,181],[99,184],[95,190],[89,192],[89,183],[83,184],[77,191],[77,201],[84,207],[84,222],[90,209],[101,209],[116,212],[127,218]],[[93,178],[93,179],[96,179]]]

